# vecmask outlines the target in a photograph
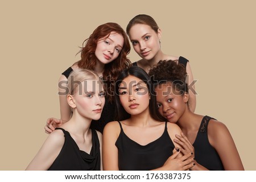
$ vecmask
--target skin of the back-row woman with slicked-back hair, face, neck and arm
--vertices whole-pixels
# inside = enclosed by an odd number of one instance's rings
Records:
[[[142,57],[141,60],[137,61],[138,67],[141,67],[149,72],[150,68],[160,60],[178,60],[179,57],[171,56],[163,53],[160,47],[160,38],[162,35],[162,30],[159,28],[156,33],[150,26],[147,24],[134,24],[129,32],[129,38],[133,44],[134,51],[137,52],[139,56]],[[196,94],[192,92],[195,90],[195,84],[193,83],[193,74],[191,66],[187,63],[186,67],[188,80],[187,84],[192,85],[192,88],[189,92],[189,109],[192,112],[196,110]]]

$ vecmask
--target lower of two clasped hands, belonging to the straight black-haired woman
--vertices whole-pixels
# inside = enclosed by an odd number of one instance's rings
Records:
[[[175,151],[174,154],[172,154],[164,163],[162,167],[164,171],[185,171],[195,166],[195,159],[191,158],[193,152],[180,156],[178,158],[177,156],[180,153],[180,150],[177,150],[178,151]]]

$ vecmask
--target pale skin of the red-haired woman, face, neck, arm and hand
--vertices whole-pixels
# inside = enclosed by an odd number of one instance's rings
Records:
[[[111,32],[108,37],[102,38],[97,42],[97,47],[95,51],[95,55],[97,57],[97,64],[95,66],[94,71],[102,76],[102,73],[105,70],[105,64],[108,64],[115,59],[117,59],[119,53],[122,50],[124,43],[123,36],[121,34],[117,34],[116,32]],[[72,65],[72,69],[78,69],[78,65]],[[67,78],[64,75],[61,75],[59,78],[59,82],[66,82]],[[62,84],[63,87],[67,87],[67,84]],[[59,92],[63,93],[65,90],[58,88]],[[48,118],[46,122],[46,126],[44,127],[47,134],[51,133],[55,130],[56,127],[61,126],[63,123],[69,121],[71,118],[71,109],[67,103],[67,99],[65,95],[59,96],[60,101],[60,119],[56,118]]]

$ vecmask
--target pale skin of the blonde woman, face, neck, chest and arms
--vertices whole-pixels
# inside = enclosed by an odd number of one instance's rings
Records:
[[[82,82],[81,85],[84,83]],[[99,85],[98,85],[99,86]],[[75,140],[81,151],[90,154],[92,149],[92,130],[89,129],[92,119],[100,118],[102,108],[105,104],[104,90],[93,90],[92,80],[88,80],[88,92],[80,95],[77,92],[67,95],[67,103],[73,109],[72,118],[64,123],[61,128],[68,131]],[[97,88],[97,85],[96,85]],[[99,87],[100,88],[100,87]],[[89,105],[85,107],[85,105]],[[97,111],[96,111],[97,110]],[[102,134],[97,131],[100,141],[101,170],[102,170]],[[65,137],[63,131],[53,131],[44,142],[43,146],[32,159],[26,170],[47,170],[51,167],[64,145]]]

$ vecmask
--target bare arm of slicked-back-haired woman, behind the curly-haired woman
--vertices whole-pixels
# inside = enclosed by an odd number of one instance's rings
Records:
[[[192,70],[191,70],[189,63],[187,63],[186,71],[188,74],[187,84],[188,84],[188,89],[189,89],[189,91],[188,91],[188,93],[189,93],[188,106],[189,106],[189,109],[194,113],[196,110],[196,87],[195,87],[195,82],[194,82]]]

